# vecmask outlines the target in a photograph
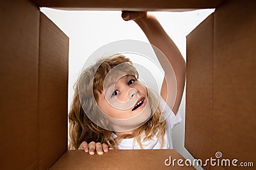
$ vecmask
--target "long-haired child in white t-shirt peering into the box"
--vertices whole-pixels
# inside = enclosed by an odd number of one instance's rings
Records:
[[[186,62],[154,15],[145,11],[123,11],[122,18],[134,20],[150,43],[172,64],[177,81],[175,102],[172,104],[168,97],[168,74],[165,74],[157,104],[156,96],[138,81],[138,72],[131,60],[119,54],[101,59],[81,73],[79,81],[83,83],[76,83],[68,114],[69,149],[81,149],[91,155],[96,151],[101,155],[109,149],[173,148],[171,133],[173,126],[181,121],[177,112],[186,79]],[[161,66],[164,68],[163,62]],[[122,108],[124,103],[127,106]],[[165,103],[173,106],[172,110],[164,108]],[[163,112],[170,115],[161,122]]]

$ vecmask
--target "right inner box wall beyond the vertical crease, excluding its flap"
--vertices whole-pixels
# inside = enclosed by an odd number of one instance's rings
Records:
[[[214,13],[212,154],[255,162],[256,2],[227,1]]]

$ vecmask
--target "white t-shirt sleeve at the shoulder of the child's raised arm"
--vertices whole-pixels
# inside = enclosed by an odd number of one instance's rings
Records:
[[[172,109],[168,106],[168,104],[165,103],[164,99],[161,96],[159,99],[159,106],[163,111],[161,116],[163,118],[162,121],[166,120],[166,128],[171,131],[173,127],[177,124],[180,124],[182,120],[180,111],[178,110],[177,114],[175,115]]]

